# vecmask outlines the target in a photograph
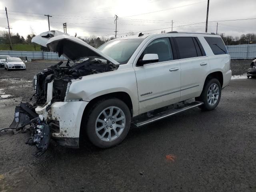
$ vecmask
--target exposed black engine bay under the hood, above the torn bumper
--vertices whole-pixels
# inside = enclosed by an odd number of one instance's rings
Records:
[[[36,90],[35,98],[37,105],[43,105],[47,98],[47,84],[53,81],[52,102],[64,101],[68,82],[72,79],[81,78],[82,76],[98,74],[112,71],[118,68],[110,62],[98,58],[86,58],[80,63],[73,66],[61,66],[63,62],[59,62],[49,68],[43,70],[34,76],[33,86]]]

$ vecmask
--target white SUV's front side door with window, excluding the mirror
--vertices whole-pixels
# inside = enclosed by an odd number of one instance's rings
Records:
[[[158,54],[158,62],[135,66],[140,114],[180,100],[180,64],[170,38],[154,39],[140,54]]]

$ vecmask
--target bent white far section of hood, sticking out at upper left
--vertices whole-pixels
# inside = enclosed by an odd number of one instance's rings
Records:
[[[63,32],[60,32],[58,30],[51,30],[51,31],[46,31],[46,32],[43,32],[37,36],[34,36],[31,40],[32,43],[36,43],[36,44],[39,44],[39,45],[42,45],[44,47],[46,47],[46,44],[48,42],[48,40],[52,37],[56,37],[56,36],[59,36],[59,35],[69,35],[69,34],[66,34],[66,33],[63,33]]]

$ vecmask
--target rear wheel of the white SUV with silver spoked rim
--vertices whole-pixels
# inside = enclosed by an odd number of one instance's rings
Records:
[[[216,86],[218,86],[218,89],[216,89]],[[204,84],[203,91],[199,97],[196,97],[196,101],[204,102],[204,104],[201,105],[200,108],[202,108],[202,110],[210,111],[210,110],[214,110],[218,106],[220,102],[220,97],[221,97],[220,82],[218,79],[213,78],[206,81],[206,83]]]

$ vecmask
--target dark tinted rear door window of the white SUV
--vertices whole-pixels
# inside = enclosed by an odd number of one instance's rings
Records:
[[[197,57],[196,46],[192,37],[175,37],[180,59]]]

